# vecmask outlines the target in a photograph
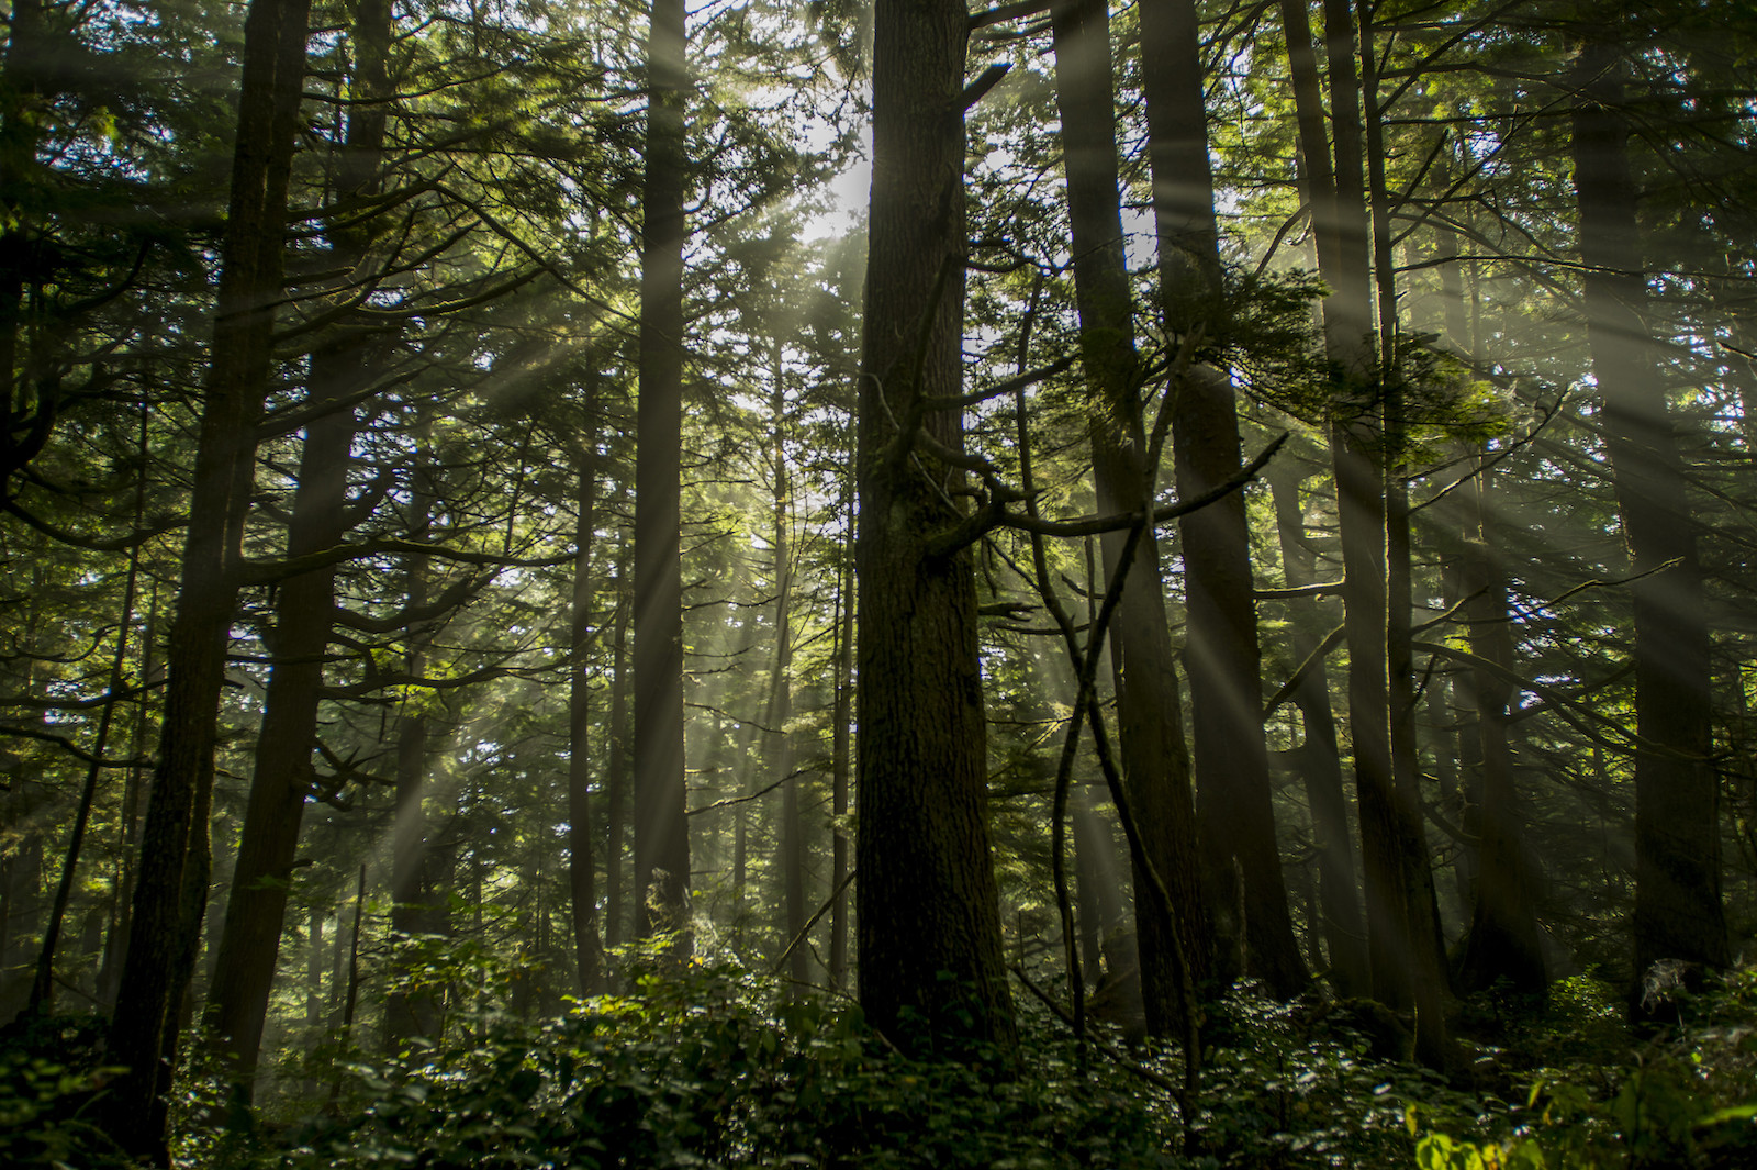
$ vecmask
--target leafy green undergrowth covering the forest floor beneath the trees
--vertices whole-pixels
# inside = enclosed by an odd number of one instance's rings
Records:
[[[541,1021],[501,1010],[492,975],[474,987],[445,1044],[286,1058],[257,1110],[188,1070],[176,1165],[1757,1166],[1753,966],[1666,989],[1639,1029],[1588,975],[1544,1003],[1478,996],[1448,1075],[1376,1054],[1395,1029],[1360,1005],[1240,991],[1205,1021],[1188,1123],[1175,1049],[1110,1036],[1112,1056],[1082,1054],[1030,996],[1016,1059],[958,1063],[905,1058],[856,1007],[736,968],[648,975]],[[0,1047],[0,1165],[130,1165],[84,1119],[98,1035],[42,1021]]]

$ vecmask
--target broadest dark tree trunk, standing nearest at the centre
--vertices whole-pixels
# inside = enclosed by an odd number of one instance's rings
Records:
[[[1016,1045],[987,834],[970,553],[928,538],[968,504],[963,0],[873,11],[873,188],[859,374],[861,1007],[914,1052]],[[901,429],[900,429],[901,427]],[[919,429],[917,429],[919,427]],[[926,436],[933,450],[921,441]]]

